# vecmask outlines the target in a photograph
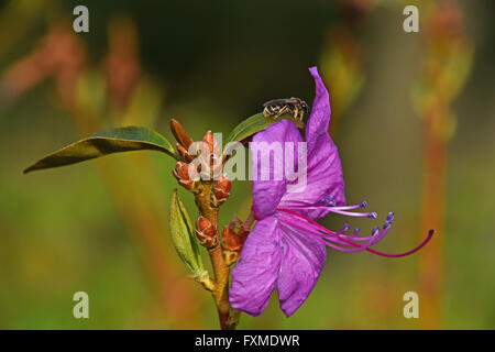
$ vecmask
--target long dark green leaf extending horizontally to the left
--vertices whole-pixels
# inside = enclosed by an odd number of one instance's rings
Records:
[[[160,133],[144,127],[125,127],[106,130],[69,144],[24,169],[24,174],[43,168],[58,167],[88,161],[113,153],[151,150],[178,160],[177,152]]]

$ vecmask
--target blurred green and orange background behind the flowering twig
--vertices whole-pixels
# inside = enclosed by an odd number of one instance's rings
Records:
[[[274,295],[239,328],[494,329],[495,3],[414,2],[419,33],[403,31],[407,1],[2,1],[0,328],[217,329],[167,232],[170,158],[134,152],[22,170],[108,127],[170,136],[176,118],[196,139],[229,133],[266,100],[312,101],[307,67],[318,65],[348,201],[367,200],[376,222],[396,213],[376,248],[400,252],[426,229],[439,233],[400,260],[329,251],[292,318]],[[76,34],[82,3],[90,31]],[[250,205],[250,184],[233,183],[221,223]],[[78,290],[89,319],[73,317]],[[419,319],[403,316],[410,290]]]

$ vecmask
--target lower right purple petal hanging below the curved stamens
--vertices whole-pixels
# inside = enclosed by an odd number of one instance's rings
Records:
[[[323,268],[327,248],[324,243],[305,231],[305,222],[283,213],[282,263],[278,273],[278,300],[284,314],[292,316],[308,298]]]

